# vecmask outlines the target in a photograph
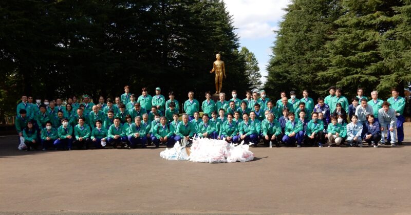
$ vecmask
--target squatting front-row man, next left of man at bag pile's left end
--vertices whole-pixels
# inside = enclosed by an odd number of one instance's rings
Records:
[[[141,123],[141,117],[137,116],[134,118],[134,123],[132,124],[128,136],[128,142],[130,143],[130,148],[136,148],[137,144],[141,144],[142,148],[145,148],[147,143],[147,133],[146,126]]]

